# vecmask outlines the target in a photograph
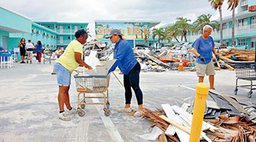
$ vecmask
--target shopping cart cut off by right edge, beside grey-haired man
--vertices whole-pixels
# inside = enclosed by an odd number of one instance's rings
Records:
[[[252,97],[252,89],[256,85],[252,84],[253,80],[256,80],[256,72],[255,72],[255,64],[251,63],[240,63],[235,65],[235,77],[236,79],[236,84],[235,84],[235,90],[234,94],[238,94],[238,87],[242,88],[247,88],[250,89],[250,92],[247,92],[246,96],[248,98]],[[240,85],[238,86],[238,80],[248,80],[250,81],[250,85]]]

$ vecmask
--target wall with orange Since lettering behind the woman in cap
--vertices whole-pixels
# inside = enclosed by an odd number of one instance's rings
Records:
[[[151,38],[151,28],[158,25],[161,21],[111,21],[96,20],[95,35],[97,40],[111,44],[106,35],[114,28],[117,28],[123,34],[123,37],[132,45],[153,45],[158,42],[157,39]],[[145,38],[146,41],[145,42]]]

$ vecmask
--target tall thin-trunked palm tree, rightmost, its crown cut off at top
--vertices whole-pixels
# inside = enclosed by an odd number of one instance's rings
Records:
[[[232,11],[232,45],[235,45],[235,8],[239,0],[228,0],[228,9]]]

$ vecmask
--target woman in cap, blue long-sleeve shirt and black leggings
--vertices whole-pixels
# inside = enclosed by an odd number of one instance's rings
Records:
[[[110,38],[114,45],[114,65],[110,68],[110,72],[114,71],[118,66],[124,74],[124,89],[125,89],[125,107],[124,111],[130,111],[132,100],[132,89],[136,94],[138,109],[142,111],[143,95],[139,87],[139,72],[141,67],[134,56],[132,47],[122,38],[122,33],[118,29],[113,29],[106,38]],[[132,87],[132,89],[131,89]],[[139,111],[137,114],[139,114]]]

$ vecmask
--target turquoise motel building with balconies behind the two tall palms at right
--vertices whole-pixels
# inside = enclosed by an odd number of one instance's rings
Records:
[[[244,0],[238,4],[235,13],[235,45],[245,46],[247,49],[256,48],[256,1]],[[219,20],[217,20],[219,21]],[[232,45],[232,11],[230,16],[223,18],[223,44]],[[193,42],[199,35],[188,35]],[[215,42],[220,42],[220,31],[213,31],[211,36]]]

